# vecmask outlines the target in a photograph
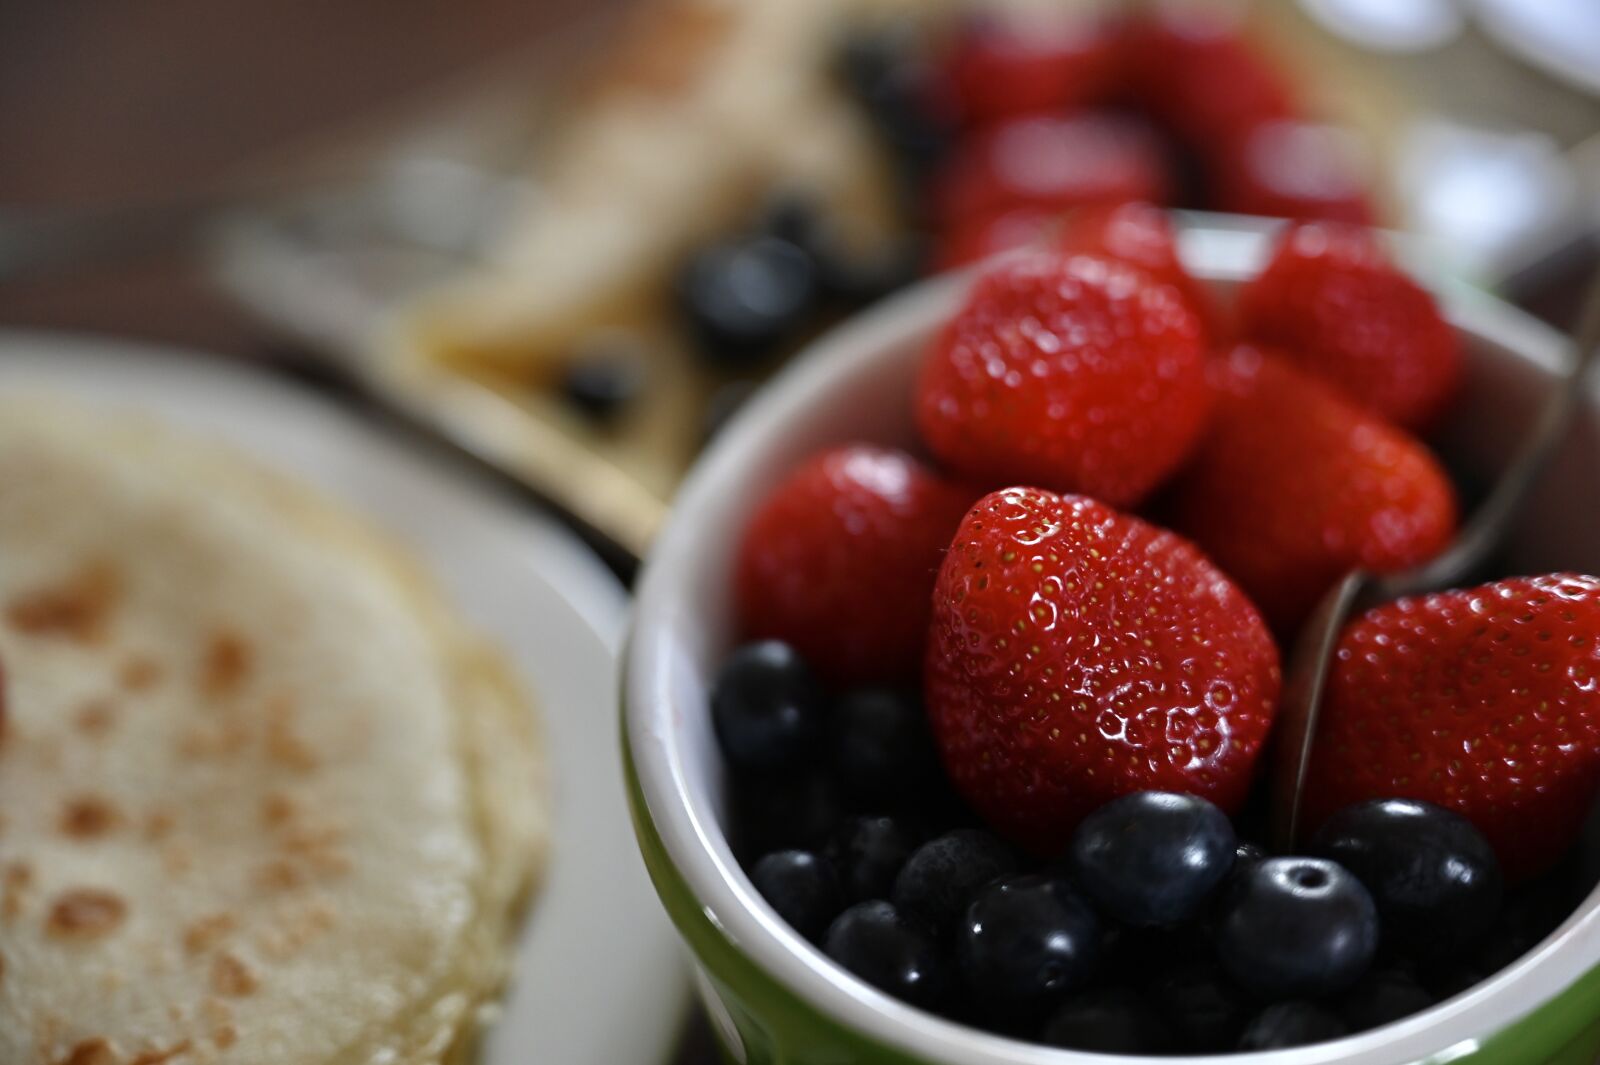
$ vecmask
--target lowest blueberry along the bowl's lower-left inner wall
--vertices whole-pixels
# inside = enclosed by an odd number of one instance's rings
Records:
[[[858,902],[827,927],[827,956],[872,987],[912,1006],[938,1009],[949,990],[949,963],[933,939],[883,900]]]

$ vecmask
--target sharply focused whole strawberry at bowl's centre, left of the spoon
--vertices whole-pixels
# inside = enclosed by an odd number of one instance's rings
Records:
[[[986,496],[939,568],[925,697],[944,764],[1042,854],[1141,788],[1237,809],[1278,683],[1261,616],[1194,544],[1093,499]]]

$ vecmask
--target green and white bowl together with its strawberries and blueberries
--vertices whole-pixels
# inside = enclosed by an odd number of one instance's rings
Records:
[[[1128,205],[787,368],[622,683],[731,1059],[1600,1060],[1594,409],[1482,574],[1349,619],[1269,827],[1298,628],[1451,542],[1568,347],[1363,229]]]

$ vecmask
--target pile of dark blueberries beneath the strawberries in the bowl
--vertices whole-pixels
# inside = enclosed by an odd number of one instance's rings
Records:
[[[779,916],[912,1006],[1050,1046],[1259,1051],[1384,1025],[1512,963],[1600,880],[1600,806],[1571,862],[1510,892],[1477,828],[1410,800],[1269,856],[1205,800],[1141,792],[1066,854],[1024,856],[954,796],[915,696],[830,696],[778,641],[728,657],[712,723],[734,848]]]

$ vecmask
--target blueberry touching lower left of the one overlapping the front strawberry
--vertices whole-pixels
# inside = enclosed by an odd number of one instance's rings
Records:
[[[1099,935],[1099,918],[1066,880],[1006,876],[966,907],[955,959],[989,1015],[1038,1020],[1094,974]]]

